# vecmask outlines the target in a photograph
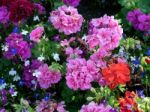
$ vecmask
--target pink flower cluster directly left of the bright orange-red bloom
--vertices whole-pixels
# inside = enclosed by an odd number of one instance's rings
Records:
[[[84,58],[70,59],[67,63],[66,80],[69,88],[73,90],[87,90],[91,88],[93,76],[98,70],[92,61]]]

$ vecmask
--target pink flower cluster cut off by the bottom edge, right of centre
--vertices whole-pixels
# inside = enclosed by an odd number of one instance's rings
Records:
[[[80,112],[117,112],[111,106],[95,102],[90,102],[88,105],[83,105]]]

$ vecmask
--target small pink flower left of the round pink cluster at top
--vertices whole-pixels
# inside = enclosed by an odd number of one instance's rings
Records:
[[[30,33],[30,40],[39,43],[40,38],[44,32],[44,27],[37,27]]]

